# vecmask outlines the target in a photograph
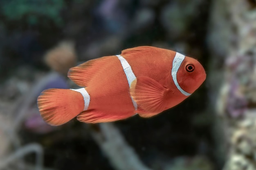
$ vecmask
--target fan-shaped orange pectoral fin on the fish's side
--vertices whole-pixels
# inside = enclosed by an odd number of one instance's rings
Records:
[[[166,109],[166,102],[171,94],[173,92],[170,89],[146,76],[137,77],[130,86],[131,97],[137,102],[138,107],[150,113],[150,116]]]

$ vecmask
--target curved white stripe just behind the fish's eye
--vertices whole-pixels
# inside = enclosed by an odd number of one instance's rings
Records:
[[[177,82],[177,72],[178,72],[178,70],[179,70],[179,68],[180,68],[180,65],[181,65],[181,63],[182,63],[182,61],[183,61],[184,59],[185,59],[185,56],[184,56],[183,54],[180,54],[180,53],[176,52],[176,55],[175,55],[175,57],[174,57],[174,59],[173,59],[173,68],[172,68],[171,74],[172,74],[173,81],[174,81],[174,84],[176,85],[177,89],[179,89],[180,92],[181,92],[182,94],[184,94],[185,96],[189,96],[189,95],[191,95],[191,94],[188,93],[188,92],[185,92],[185,91],[180,87],[179,83]]]

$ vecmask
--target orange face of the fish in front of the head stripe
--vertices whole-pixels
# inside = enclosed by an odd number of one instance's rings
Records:
[[[206,79],[203,66],[191,57],[185,57],[177,71],[177,83],[187,93],[192,94]]]

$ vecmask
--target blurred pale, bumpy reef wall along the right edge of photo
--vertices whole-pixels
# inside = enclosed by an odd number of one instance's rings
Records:
[[[223,131],[217,143],[219,151],[225,149],[216,154],[226,156],[224,170],[256,169],[255,33],[254,1],[214,1],[209,34],[213,63],[209,83],[214,85],[210,107],[216,106],[213,112]],[[212,94],[214,91],[219,91],[218,95]]]

